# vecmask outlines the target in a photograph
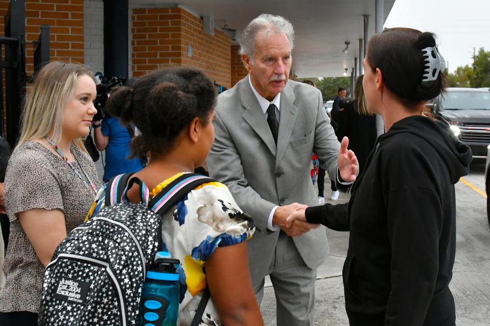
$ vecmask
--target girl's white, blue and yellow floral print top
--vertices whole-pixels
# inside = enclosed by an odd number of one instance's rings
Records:
[[[177,173],[161,182],[150,192],[150,198],[180,175],[182,173]],[[104,207],[104,187],[87,218]],[[253,219],[243,213],[228,188],[219,182],[196,187],[164,214],[161,228],[164,248],[161,249],[180,261],[178,326],[190,325],[194,318],[207,286],[205,263],[214,250],[246,241],[254,231]],[[207,303],[200,325],[221,325],[212,299]]]

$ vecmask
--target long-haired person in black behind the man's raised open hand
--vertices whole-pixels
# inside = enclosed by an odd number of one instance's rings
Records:
[[[349,138],[349,149],[356,153],[359,162],[359,174],[364,171],[367,157],[376,143],[376,116],[368,111],[364,90],[362,88],[363,75],[356,81],[354,100],[339,103],[343,108],[339,115],[339,136]]]

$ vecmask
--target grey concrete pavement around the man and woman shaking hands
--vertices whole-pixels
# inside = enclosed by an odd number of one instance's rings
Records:
[[[328,179],[328,178],[325,178]],[[464,177],[470,185],[483,190],[484,164],[472,164]],[[325,180],[325,196],[330,195],[330,180]],[[456,324],[490,325],[490,227],[486,217],[486,199],[468,185],[458,182],[456,190],[456,258],[450,284],[456,304]],[[334,203],[345,203],[349,196],[341,194]],[[328,259],[318,268],[315,286],[315,325],[348,325],[344,307],[342,264],[348,244],[348,232],[326,230],[330,244]],[[265,325],[276,325],[275,297],[266,280],[261,311]],[[282,326],[282,325],[278,325]]]

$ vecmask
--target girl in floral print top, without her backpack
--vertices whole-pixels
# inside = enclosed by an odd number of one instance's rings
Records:
[[[132,155],[151,153],[148,166],[133,175],[152,189],[150,197],[202,165],[215,137],[215,103],[213,82],[195,68],[157,70],[111,94],[108,112],[141,133],[130,144]],[[139,203],[140,192],[129,189],[129,201]],[[225,185],[206,183],[189,192],[164,214],[161,230],[183,268],[179,325],[191,324],[206,287],[211,299],[200,324],[263,325],[247,259],[246,240],[255,223]]]

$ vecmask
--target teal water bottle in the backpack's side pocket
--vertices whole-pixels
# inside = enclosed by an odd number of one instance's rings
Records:
[[[156,254],[154,268],[147,271],[139,306],[140,326],[176,326],[179,312],[178,259],[168,252]]]

